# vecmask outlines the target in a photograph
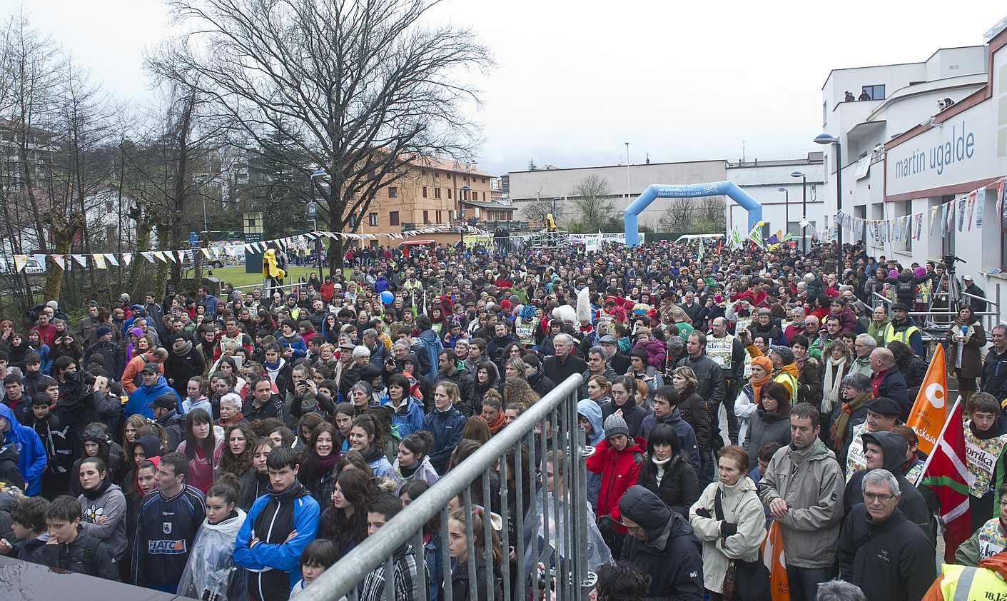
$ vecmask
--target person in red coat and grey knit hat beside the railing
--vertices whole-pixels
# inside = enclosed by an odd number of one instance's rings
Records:
[[[619,499],[627,488],[636,483],[639,466],[646,452],[646,440],[629,438],[629,427],[617,411],[605,419],[605,439],[594,447],[594,454],[587,458],[587,469],[601,474],[598,493],[598,528],[602,538],[618,557],[626,529],[622,525]]]

